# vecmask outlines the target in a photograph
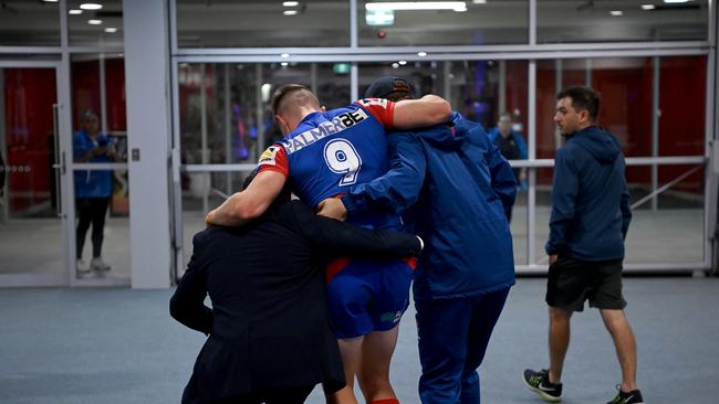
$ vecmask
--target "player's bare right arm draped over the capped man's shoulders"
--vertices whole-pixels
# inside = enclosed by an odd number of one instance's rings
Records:
[[[395,104],[393,125],[397,129],[421,128],[446,123],[451,114],[449,103],[428,94],[419,99],[405,99]]]

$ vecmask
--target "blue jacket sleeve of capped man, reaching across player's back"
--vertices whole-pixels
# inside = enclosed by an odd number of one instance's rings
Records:
[[[389,171],[342,196],[348,217],[376,210],[402,213],[417,202],[427,170],[423,146],[409,132],[394,132],[388,142]]]

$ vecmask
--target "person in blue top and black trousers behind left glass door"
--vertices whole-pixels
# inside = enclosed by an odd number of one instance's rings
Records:
[[[100,132],[97,115],[86,110],[80,117],[81,129],[73,136],[74,162],[113,162],[117,153],[106,135]],[[102,258],[105,216],[113,191],[111,170],[75,170],[75,208],[77,210],[76,258],[77,275],[92,270],[104,273],[110,265]],[[83,259],[83,247],[92,224],[92,259]]]

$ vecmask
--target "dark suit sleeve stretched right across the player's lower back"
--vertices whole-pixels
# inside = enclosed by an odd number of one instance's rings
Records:
[[[296,231],[326,255],[361,257],[417,256],[419,238],[407,233],[369,230],[319,216],[302,202],[291,202]]]

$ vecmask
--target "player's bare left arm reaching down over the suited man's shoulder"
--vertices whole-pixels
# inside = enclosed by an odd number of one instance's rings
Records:
[[[205,222],[222,226],[238,226],[261,216],[280,194],[285,177],[277,171],[262,171],[242,192],[237,192],[207,214]]]

